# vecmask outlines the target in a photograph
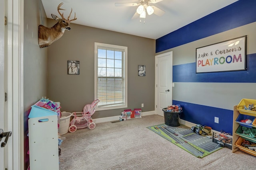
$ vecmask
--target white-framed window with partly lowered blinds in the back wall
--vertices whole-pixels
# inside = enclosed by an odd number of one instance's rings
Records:
[[[96,110],[127,107],[127,47],[94,43]]]

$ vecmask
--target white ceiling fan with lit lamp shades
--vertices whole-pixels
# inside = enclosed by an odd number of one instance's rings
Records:
[[[115,3],[115,6],[138,6],[136,13],[132,17],[135,18],[136,15],[140,15],[140,18],[146,18],[146,11],[148,15],[156,14],[157,16],[164,15],[164,11],[160,8],[157,8],[156,6],[150,6],[149,4],[156,4],[157,2],[160,2],[162,0],[139,0],[139,3]],[[141,22],[141,20],[140,20]],[[145,21],[144,21],[145,23]]]

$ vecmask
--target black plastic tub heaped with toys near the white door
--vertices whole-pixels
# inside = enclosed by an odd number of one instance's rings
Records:
[[[170,112],[170,111],[166,111],[167,108],[163,108],[162,110],[164,111],[164,124],[168,125],[168,126],[180,126],[179,123],[179,115],[182,113],[182,111],[180,112]]]

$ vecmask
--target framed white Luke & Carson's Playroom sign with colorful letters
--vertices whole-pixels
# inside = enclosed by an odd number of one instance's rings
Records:
[[[246,70],[246,35],[196,49],[196,73]]]

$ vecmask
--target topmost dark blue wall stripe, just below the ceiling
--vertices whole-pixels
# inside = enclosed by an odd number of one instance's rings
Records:
[[[239,0],[156,39],[156,53],[256,21],[256,0]]]

